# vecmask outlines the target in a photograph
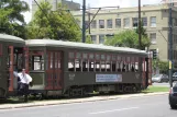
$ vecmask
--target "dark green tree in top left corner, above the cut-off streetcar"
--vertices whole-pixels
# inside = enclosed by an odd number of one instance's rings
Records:
[[[25,21],[23,12],[29,11],[29,4],[21,0],[1,0],[0,2],[0,33],[25,38]]]

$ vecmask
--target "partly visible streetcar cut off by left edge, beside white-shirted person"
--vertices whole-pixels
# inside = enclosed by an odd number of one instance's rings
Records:
[[[25,68],[27,48],[22,38],[0,34],[0,98],[16,95],[18,79],[13,71]]]

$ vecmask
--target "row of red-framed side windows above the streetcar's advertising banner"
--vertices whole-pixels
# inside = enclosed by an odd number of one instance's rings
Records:
[[[136,72],[139,57],[118,55],[69,52],[68,71]]]

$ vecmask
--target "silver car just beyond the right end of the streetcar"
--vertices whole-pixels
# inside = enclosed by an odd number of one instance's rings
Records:
[[[153,78],[152,78],[152,82],[169,82],[169,78],[167,74],[155,74]]]

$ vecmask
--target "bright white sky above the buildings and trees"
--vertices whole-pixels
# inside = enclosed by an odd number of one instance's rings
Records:
[[[30,4],[30,8],[32,9],[32,0],[23,0],[26,1]],[[71,1],[71,0],[68,0]],[[82,0],[73,0],[74,2],[78,2],[82,4]],[[128,7],[137,7],[139,0],[86,0],[87,7],[90,5],[91,8],[98,8],[98,7],[120,7],[120,8],[128,8]],[[141,0],[141,4],[156,4],[159,3],[162,0]],[[31,11],[23,13],[25,16],[26,23],[31,21]]]

